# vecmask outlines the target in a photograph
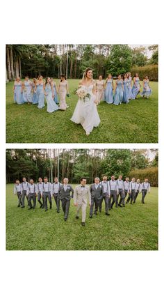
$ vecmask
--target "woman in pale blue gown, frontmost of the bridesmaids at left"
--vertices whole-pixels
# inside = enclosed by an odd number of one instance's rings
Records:
[[[51,78],[46,78],[44,94],[47,100],[47,112],[52,113],[58,110],[58,105],[54,102],[54,88]]]

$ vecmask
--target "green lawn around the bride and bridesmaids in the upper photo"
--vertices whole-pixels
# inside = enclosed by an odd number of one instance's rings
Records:
[[[56,80],[58,84],[58,80]],[[153,94],[147,99],[138,95],[128,105],[101,102],[101,123],[89,136],[81,125],[70,121],[78,98],[72,92],[79,80],[69,79],[69,108],[53,114],[47,107],[13,103],[13,82],[6,84],[7,143],[156,143],[158,142],[158,82],[150,82]]]

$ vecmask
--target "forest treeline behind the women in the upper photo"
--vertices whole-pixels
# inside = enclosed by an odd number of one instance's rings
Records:
[[[147,50],[152,52],[150,59]],[[65,74],[67,78],[79,79],[87,67],[92,68],[94,78],[99,74],[105,78],[108,73],[116,77],[142,66],[150,66],[150,72],[155,70],[149,79],[158,80],[158,45],[133,49],[129,45],[6,45],[9,81],[26,75],[60,78]]]

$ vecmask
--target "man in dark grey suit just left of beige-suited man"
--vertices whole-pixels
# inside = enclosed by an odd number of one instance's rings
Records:
[[[72,186],[68,184],[68,178],[63,179],[63,185],[60,185],[58,194],[62,202],[62,208],[65,215],[64,220],[67,221],[67,217],[69,215],[70,200],[74,197],[74,190]]]

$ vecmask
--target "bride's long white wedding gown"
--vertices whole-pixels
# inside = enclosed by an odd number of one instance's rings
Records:
[[[81,88],[84,88],[91,96],[90,99],[85,98],[85,102],[80,99],[78,100],[71,121],[74,123],[81,123],[86,134],[89,135],[93,128],[99,125],[100,118],[97,112],[97,105],[94,102],[96,96],[92,93],[93,84],[90,86],[83,85]]]

